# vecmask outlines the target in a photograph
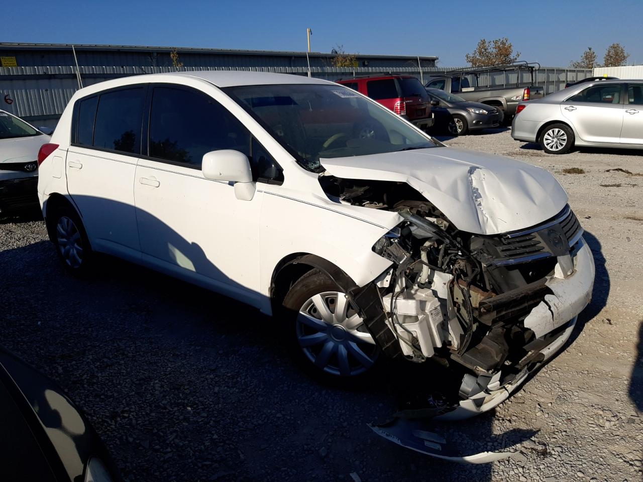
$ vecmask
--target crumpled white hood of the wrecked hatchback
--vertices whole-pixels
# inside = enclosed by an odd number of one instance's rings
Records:
[[[546,170],[473,150],[433,147],[320,162],[336,177],[406,182],[469,233],[529,228],[567,203],[565,190]]]

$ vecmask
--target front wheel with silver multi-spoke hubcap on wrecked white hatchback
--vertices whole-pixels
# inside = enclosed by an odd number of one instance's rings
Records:
[[[325,382],[363,378],[379,349],[346,294],[323,272],[297,280],[284,298],[293,349],[303,368]]]

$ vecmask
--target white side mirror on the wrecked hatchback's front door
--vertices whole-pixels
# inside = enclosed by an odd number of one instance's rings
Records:
[[[206,179],[234,183],[237,199],[250,201],[255,195],[248,156],[238,150],[206,152],[201,160],[201,172]]]

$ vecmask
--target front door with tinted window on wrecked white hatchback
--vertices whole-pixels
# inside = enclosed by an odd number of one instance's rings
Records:
[[[210,96],[153,86],[149,156],[136,167],[134,200],[145,262],[253,304],[263,193],[241,201],[231,183],[201,172],[206,152],[249,156],[250,143],[248,130]]]

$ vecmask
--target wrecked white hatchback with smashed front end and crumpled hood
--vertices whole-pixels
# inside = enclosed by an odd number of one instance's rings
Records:
[[[39,162],[69,271],[107,253],[239,299],[327,379],[378,357],[457,367],[445,418],[505,400],[592,294],[592,253],[551,174],[445,147],[324,80],[208,71],[91,85]]]

